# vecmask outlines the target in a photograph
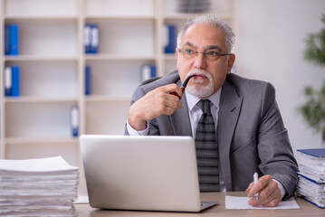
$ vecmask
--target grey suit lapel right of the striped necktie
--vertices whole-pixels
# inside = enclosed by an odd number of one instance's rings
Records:
[[[234,136],[234,128],[242,107],[242,101],[243,96],[238,96],[234,86],[225,80],[219,103],[217,141],[220,166],[227,191],[232,191],[229,150]]]

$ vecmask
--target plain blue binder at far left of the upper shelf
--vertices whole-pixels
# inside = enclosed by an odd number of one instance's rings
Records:
[[[5,55],[18,55],[19,53],[19,27],[18,24],[5,25]]]

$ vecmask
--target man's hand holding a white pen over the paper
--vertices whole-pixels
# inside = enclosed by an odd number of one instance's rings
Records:
[[[248,197],[253,197],[248,204],[253,206],[276,206],[282,200],[282,195],[278,184],[272,180],[271,175],[263,175],[256,184],[249,184],[246,189]],[[256,202],[255,193],[259,193]]]

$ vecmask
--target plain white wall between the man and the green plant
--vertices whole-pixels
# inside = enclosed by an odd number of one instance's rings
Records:
[[[297,112],[305,101],[304,87],[318,88],[325,80],[325,69],[304,61],[302,53],[307,33],[323,27],[321,14],[325,14],[324,0],[236,1],[238,73],[274,85],[294,152],[325,147],[320,133]]]

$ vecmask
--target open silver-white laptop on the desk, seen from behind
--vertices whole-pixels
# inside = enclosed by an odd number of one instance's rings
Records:
[[[192,137],[82,135],[90,205],[113,210],[200,212]]]

